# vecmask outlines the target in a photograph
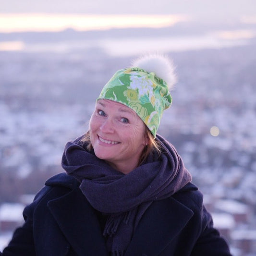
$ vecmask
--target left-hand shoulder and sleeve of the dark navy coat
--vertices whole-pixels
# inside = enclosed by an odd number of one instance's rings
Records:
[[[51,177],[34,201],[24,208],[24,224],[16,229],[3,255],[67,255],[70,245],[59,232],[60,228],[49,205],[51,202],[60,202],[62,198],[69,198],[66,203],[68,205],[79,197],[77,191],[80,193],[79,183],[67,174],[60,173]],[[63,207],[58,209],[61,211]],[[61,214],[67,215],[62,211]]]

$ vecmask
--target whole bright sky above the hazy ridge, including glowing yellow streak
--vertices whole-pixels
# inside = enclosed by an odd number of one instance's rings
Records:
[[[0,32],[165,27],[184,20],[256,23],[255,0],[3,0]]]

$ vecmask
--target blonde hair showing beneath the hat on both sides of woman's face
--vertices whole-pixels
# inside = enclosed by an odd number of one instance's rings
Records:
[[[144,147],[144,149],[141,152],[140,158],[139,158],[139,162],[138,162],[138,166],[140,166],[148,157],[148,155],[153,152],[156,151],[158,153],[158,155],[160,155],[161,153],[161,146],[158,143],[158,141],[154,138],[154,135],[150,132],[150,130],[147,128],[146,124],[145,124],[145,138],[147,141],[147,145]],[[93,150],[93,146],[91,144],[91,140],[90,140],[90,131],[88,131],[83,138],[81,139],[81,143],[82,146],[85,146],[85,148],[88,151]]]

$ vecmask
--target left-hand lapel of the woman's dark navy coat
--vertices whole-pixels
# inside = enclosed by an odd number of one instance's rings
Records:
[[[48,207],[61,231],[78,255],[107,256],[104,237],[95,210],[79,187],[49,201]]]

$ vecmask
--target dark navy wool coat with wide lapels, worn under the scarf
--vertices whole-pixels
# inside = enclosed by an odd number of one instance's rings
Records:
[[[125,256],[230,256],[213,229],[203,196],[189,183],[146,210]],[[24,209],[18,228],[2,256],[107,256],[97,212],[79,183],[61,173],[46,182]]]

